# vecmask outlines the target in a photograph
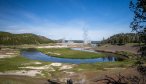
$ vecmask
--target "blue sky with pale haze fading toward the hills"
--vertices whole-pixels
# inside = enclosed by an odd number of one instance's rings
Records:
[[[131,32],[129,0],[0,0],[0,31],[102,40]]]

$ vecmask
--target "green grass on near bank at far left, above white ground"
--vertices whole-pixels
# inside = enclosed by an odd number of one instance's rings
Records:
[[[49,62],[41,62],[42,64],[33,64],[33,62],[38,62],[38,61],[29,60],[21,56],[17,56],[14,58],[0,59],[0,72],[10,71],[10,70],[21,70],[21,68],[19,67],[25,67],[25,66],[43,66],[46,64],[50,64]]]

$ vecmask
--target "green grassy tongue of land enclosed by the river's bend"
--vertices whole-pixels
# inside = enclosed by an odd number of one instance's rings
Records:
[[[71,50],[69,48],[48,48],[48,49],[45,48],[45,49],[37,49],[37,50],[50,56],[55,56],[59,58],[70,58],[70,59],[87,59],[87,58],[92,59],[92,58],[99,58],[105,56],[104,54],[101,53]],[[56,55],[54,53],[57,53],[59,55]]]

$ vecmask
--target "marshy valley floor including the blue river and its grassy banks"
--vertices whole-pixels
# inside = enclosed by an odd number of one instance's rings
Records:
[[[12,57],[1,54],[5,57],[0,59],[0,83],[39,84],[48,83],[49,79],[65,84],[72,79],[74,84],[96,84],[95,80],[105,75],[133,71],[136,61],[125,56],[118,61],[116,58],[122,55],[80,48],[28,47],[1,47],[1,53],[11,50]]]

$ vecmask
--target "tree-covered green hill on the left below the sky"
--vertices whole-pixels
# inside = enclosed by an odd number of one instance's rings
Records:
[[[52,43],[51,39],[32,33],[12,34],[9,32],[0,32],[0,44],[3,45],[21,45],[21,44],[43,44]]]

